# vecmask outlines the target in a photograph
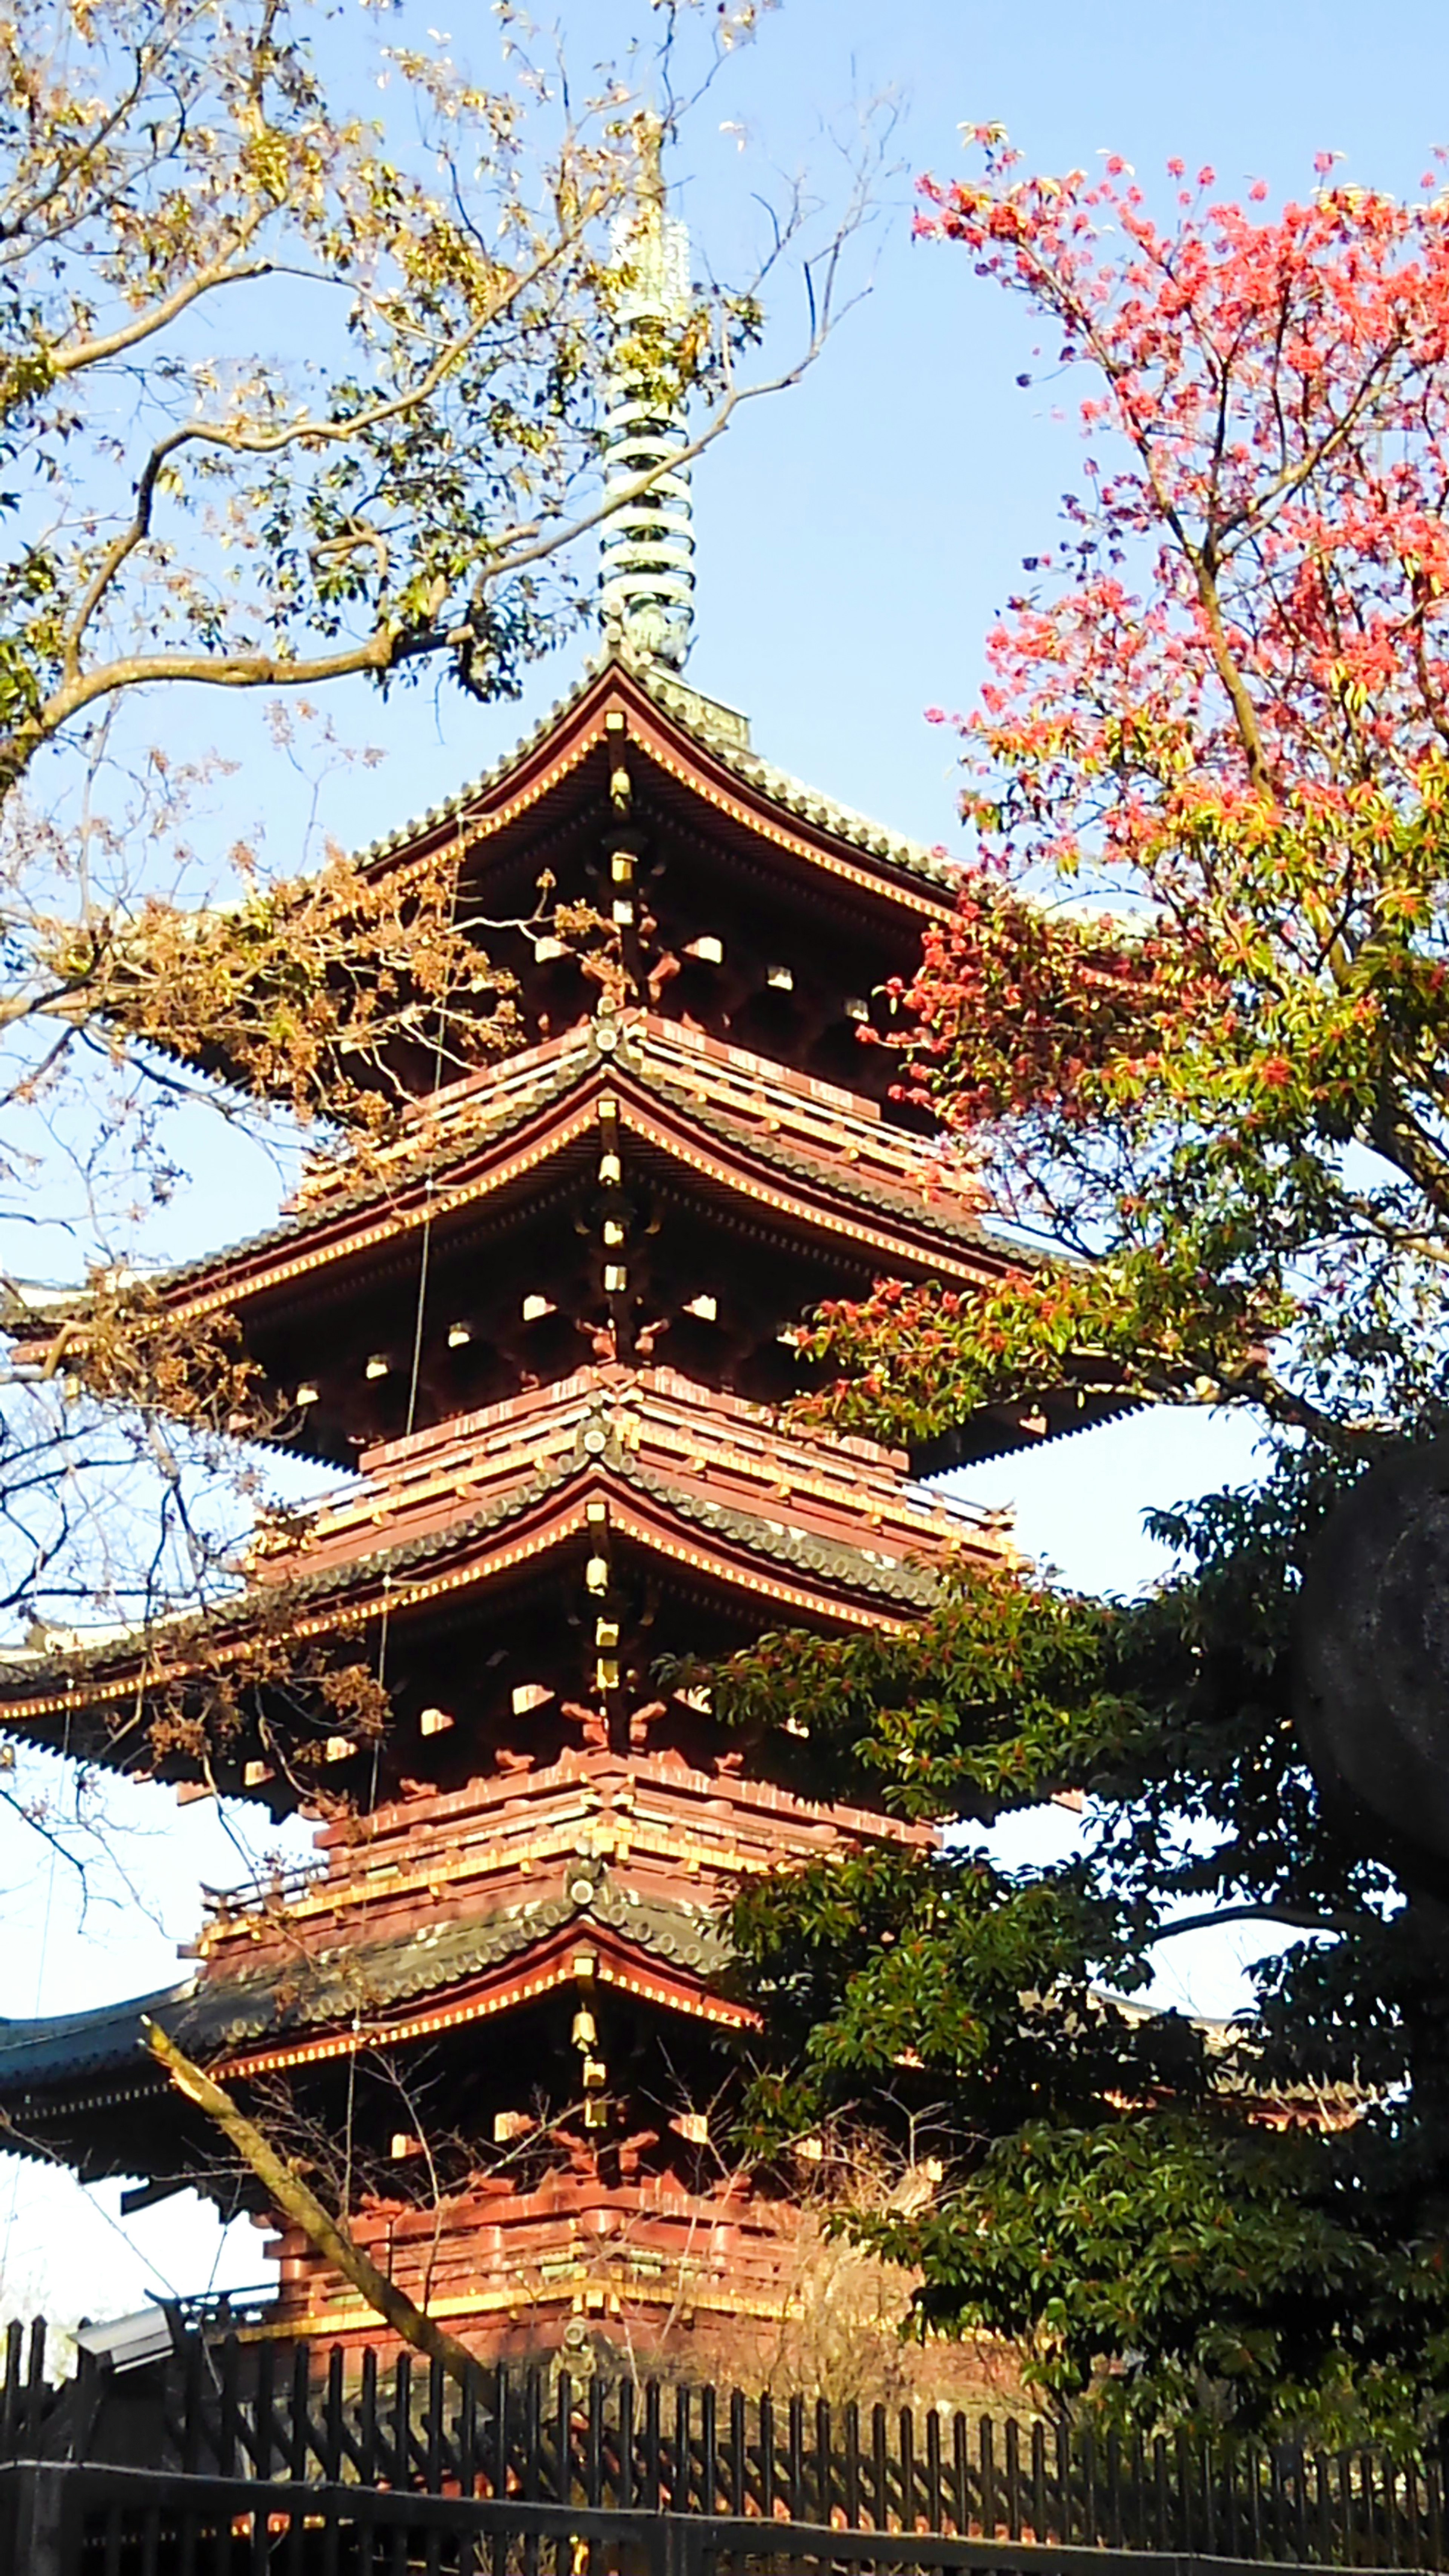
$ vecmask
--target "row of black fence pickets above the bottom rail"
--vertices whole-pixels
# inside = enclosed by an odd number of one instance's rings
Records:
[[[1441,2465],[1302,2445],[1093,2434],[941,2409],[859,2409],[709,2385],[178,2336],[165,2365],[46,2383],[44,2326],[10,2329],[0,2463],[72,2460],[263,2486],[938,2532],[1055,2550],[1426,2566]]]

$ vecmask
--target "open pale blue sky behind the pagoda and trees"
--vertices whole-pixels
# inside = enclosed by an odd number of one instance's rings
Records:
[[[443,5],[428,0],[431,10]],[[410,5],[413,15],[420,33],[425,13]],[[619,52],[647,21],[645,8],[616,0],[562,15],[575,62]],[[428,23],[451,28],[456,52],[464,28],[487,26],[477,5],[467,21]],[[485,67],[482,54],[472,59]],[[1421,0],[1379,15],[1338,0],[786,0],[730,67],[681,155],[681,211],[701,250],[722,270],[737,268],[758,224],[750,191],[761,167],[807,162],[830,183],[822,126],[843,129],[853,106],[884,93],[908,170],[951,175],[959,124],[1000,118],[1036,167],[1091,165],[1116,149],[1155,185],[1181,152],[1189,165],[1212,162],[1225,191],[1266,178],[1279,196],[1305,191],[1312,155],[1328,147],[1346,155],[1348,175],[1408,191],[1428,149],[1449,139],[1449,21]],[[745,126],[745,152],[724,124]],[[980,639],[1021,554],[1052,538],[1078,446],[1055,410],[1062,392],[1013,381],[1026,317],[972,276],[964,252],[913,245],[908,224],[902,175],[871,237],[871,294],[812,376],[750,410],[696,471],[701,580],[688,677],[745,708],[758,750],[784,768],[902,832],[954,845],[949,737],[923,724],[923,708],[969,701]],[[797,327],[784,286],[781,350]],[[335,701],[343,732],[382,744],[387,760],[335,783],[333,835],[369,840],[492,762],[572,680],[583,652],[580,639],[539,670],[523,708],[425,690],[387,708],[361,693]],[[219,729],[217,711],[196,701],[165,721],[193,744]],[[227,806],[266,814],[281,855],[299,829],[294,783],[253,716],[229,708],[224,721],[242,762]],[[273,1203],[276,1177],[260,1157],[227,1167],[224,1180],[206,1162],[175,1208],[175,1249],[248,1231]],[[1021,1540],[1073,1579],[1134,1589],[1155,1566],[1142,1507],[1245,1466],[1238,1427],[1145,1417],[1006,1461],[967,1489],[982,1502],[1016,1499]],[[52,1870],[34,1837],[0,1819],[8,2012],[75,2009],[168,1984],[175,1942],[196,1924],[196,1880],[245,1873],[214,1814],[178,1819],[160,1790],[126,1793],[121,1806],[124,1852],[152,1914],[113,1891],[119,1901],[85,1927],[64,1868]],[[1034,1847],[1067,1829],[1047,1819],[1031,1829]],[[1245,1935],[1171,1945],[1163,1999],[1230,2009],[1245,1950]],[[113,2200],[0,2159],[0,2298],[10,2313],[31,2303],[101,2313],[134,2303],[147,2280],[201,2285],[214,2262],[217,2277],[260,2277],[248,2228],[217,2246],[211,2218],[173,2202],[121,2236]]]

